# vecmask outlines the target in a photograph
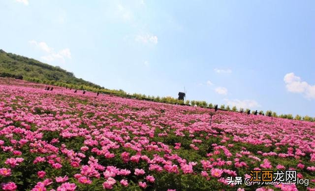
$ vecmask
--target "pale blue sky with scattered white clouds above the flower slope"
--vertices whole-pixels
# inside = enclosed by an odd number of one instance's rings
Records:
[[[0,48],[110,89],[315,116],[315,1],[2,0]]]

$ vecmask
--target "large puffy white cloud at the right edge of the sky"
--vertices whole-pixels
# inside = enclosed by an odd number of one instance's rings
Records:
[[[285,87],[287,91],[303,94],[309,99],[315,99],[315,85],[310,85],[302,81],[301,78],[296,76],[293,72],[285,74],[284,83],[286,84]]]

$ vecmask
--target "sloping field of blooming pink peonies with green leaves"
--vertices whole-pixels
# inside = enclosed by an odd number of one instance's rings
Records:
[[[315,190],[315,123],[0,78],[4,191]],[[296,170],[309,185],[244,184]],[[242,177],[243,184],[228,183]]]

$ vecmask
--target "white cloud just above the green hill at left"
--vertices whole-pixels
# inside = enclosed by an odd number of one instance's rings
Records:
[[[44,61],[52,62],[58,60],[64,63],[66,58],[71,59],[71,52],[68,48],[62,49],[56,53],[53,48],[47,45],[46,42],[37,42],[35,40],[30,40],[29,43],[34,45],[36,48],[39,48],[42,51],[48,53],[48,55],[40,57]]]

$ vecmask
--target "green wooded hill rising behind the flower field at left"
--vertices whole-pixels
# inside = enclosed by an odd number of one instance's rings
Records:
[[[44,64],[24,56],[6,53],[1,49],[0,77],[15,77],[18,79],[45,83],[54,81],[77,86],[89,86],[98,89],[102,88],[94,83],[76,78],[72,72],[68,72],[58,66]]]

